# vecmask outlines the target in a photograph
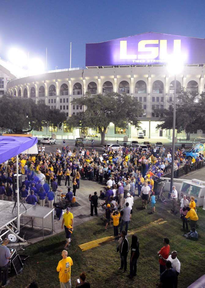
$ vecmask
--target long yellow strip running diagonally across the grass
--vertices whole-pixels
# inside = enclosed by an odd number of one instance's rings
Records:
[[[167,221],[165,221],[164,219],[160,218],[160,219],[158,219],[158,220],[156,220],[154,222],[148,223],[147,225],[144,225],[142,227],[139,227],[139,228],[136,228],[134,230],[131,230],[128,233],[128,235],[133,235],[133,234],[135,234],[137,232],[143,231],[145,229],[151,228],[151,227],[156,226],[156,225],[164,224],[166,222]],[[87,242],[87,243],[84,243],[84,244],[80,244],[80,245],[78,245],[78,247],[80,247],[80,249],[82,251],[86,251],[86,250],[98,247],[102,243],[107,243],[107,242],[110,242],[110,241],[114,241],[115,238],[116,237],[114,237],[114,236],[103,237],[103,238],[100,238],[100,239],[96,239],[94,241],[90,241],[90,242]]]

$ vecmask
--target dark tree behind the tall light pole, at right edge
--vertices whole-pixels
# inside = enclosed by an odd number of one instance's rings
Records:
[[[168,101],[170,104],[173,102]],[[188,92],[184,88],[181,93],[177,94],[176,99],[176,129],[178,132],[185,130],[189,135],[197,129],[202,129],[205,124],[205,93],[202,93],[197,99],[196,92]],[[173,128],[173,106],[170,109],[155,109],[154,112],[159,113],[162,123],[157,125],[160,129]]]

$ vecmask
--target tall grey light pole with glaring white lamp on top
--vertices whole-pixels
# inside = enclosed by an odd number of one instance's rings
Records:
[[[172,164],[171,164],[171,178],[170,178],[170,192],[172,193],[173,178],[174,178],[174,151],[175,151],[175,126],[176,126],[176,75],[181,73],[184,68],[183,55],[171,55],[167,62],[167,71],[169,74],[174,74],[174,106],[173,106],[173,133],[172,133]]]

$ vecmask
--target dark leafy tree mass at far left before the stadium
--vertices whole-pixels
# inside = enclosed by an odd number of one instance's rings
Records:
[[[39,130],[42,126],[53,125],[60,128],[66,120],[65,112],[50,109],[44,102],[38,104],[30,98],[3,95],[0,98],[0,127],[14,133]]]

